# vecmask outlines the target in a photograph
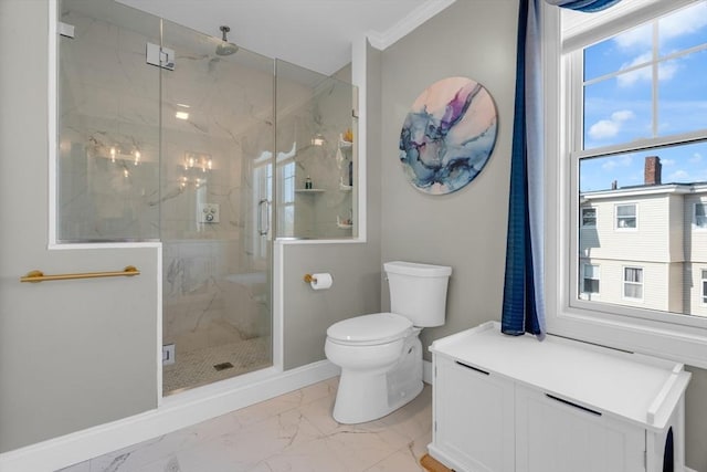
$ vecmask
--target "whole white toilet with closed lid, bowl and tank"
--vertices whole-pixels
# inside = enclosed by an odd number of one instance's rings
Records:
[[[327,329],[327,359],[341,368],[334,419],[354,424],[384,417],[422,391],[423,327],[444,324],[452,268],[383,264],[391,313],[356,316]]]

